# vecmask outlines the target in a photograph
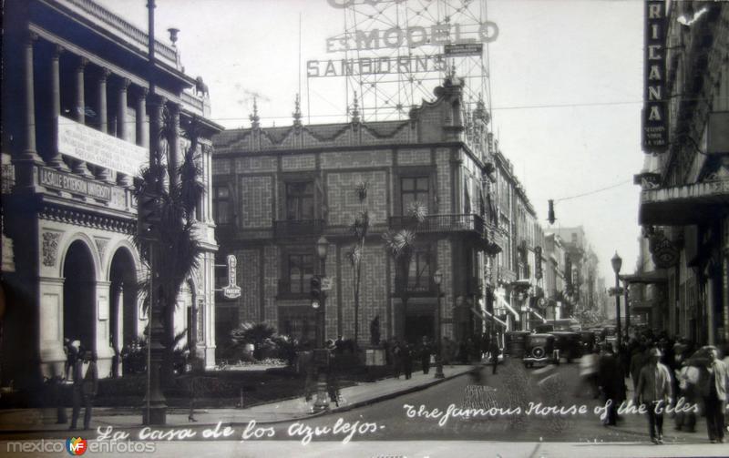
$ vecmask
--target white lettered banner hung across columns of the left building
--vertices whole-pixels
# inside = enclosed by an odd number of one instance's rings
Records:
[[[130,177],[149,162],[147,148],[112,137],[68,117],[58,117],[58,152]]]

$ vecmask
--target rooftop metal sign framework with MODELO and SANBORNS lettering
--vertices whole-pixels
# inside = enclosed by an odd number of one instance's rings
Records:
[[[465,109],[481,100],[490,115],[488,43],[498,26],[487,0],[329,3],[342,10],[344,33],[326,40],[324,59],[307,62],[307,87],[344,77],[347,113],[356,106],[364,121],[402,119],[455,72],[465,81]]]

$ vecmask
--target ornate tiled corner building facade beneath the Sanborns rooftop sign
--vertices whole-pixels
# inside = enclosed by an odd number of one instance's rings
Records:
[[[228,130],[214,138],[214,207],[221,255],[238,258],[239,300],[218,300],[222,336],[243,322],[265,322],[279,333],[312,340],[316,327],[309,296],[313,275],[332,281],[324,307],[327,339],[354,337],[354,270],[347,253],[350,229],[367,209],[358,341],[369,341],[379,320],[381,337],[409,341],[436,335],[442,273],[441,330],[465,339],[480,333],[484,276],[493,243],[493,212],[485,171],[492,163],[488,114],[462,108],[462,82],[448,78],[436,100],[410,118],[360,122],[356,107],[345,124],[260,126]],[[491,164],[492,167],[492,164]],[[367,183],[361,203],[355,188]],[[385,231],[408,225],[419,202],[426,219],[416,228],[416,250],[406,283],[406,305],[385,249]],[[493,207],[493,206],[491,206]],[[328,241],[325,266],[315,244]]]

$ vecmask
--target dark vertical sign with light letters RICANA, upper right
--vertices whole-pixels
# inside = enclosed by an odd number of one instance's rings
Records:
[[[645,152],[652,153],[665,151],[668,147],[665,29],[665,2],[646,0],[642,144]]]

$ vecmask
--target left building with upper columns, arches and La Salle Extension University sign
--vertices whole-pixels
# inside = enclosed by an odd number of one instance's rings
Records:
[[[149,117],[200,121],[199,164],[210,186],[208,99],[156,43],[149,96],[148,36],[91,0],[9,1],[3,36],[2,382],[62,374],[64,341],[98,353],[102,377],[148,323],[138,298],[147,275],[132,244],[132,179],[149,161]],[[177,137],[169,158],[189,142]],[[208,194],[210,196],[210,193]],[[198,207],[200,268],[179,297],[180,345],[212,367],[215,337],[211,200]]]

